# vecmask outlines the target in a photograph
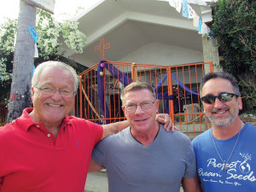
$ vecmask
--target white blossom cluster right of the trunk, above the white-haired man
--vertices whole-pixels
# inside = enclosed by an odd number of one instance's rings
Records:
[[[77,53],[83,52],[86,37],[79,31],[77,20],[64,20],[58,22],[52,16],[38,9],[37,12],[37,32],[38,32],[38,52],[44,60],[59,59],[57,55],[63,55],[65,50],[61,50],[60,38],[68,48],[74,49]]]

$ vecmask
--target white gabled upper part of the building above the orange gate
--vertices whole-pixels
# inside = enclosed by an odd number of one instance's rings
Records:
[[[205,1],[188,3],[204,22],[212,20]],[[167,0],[102,0],[78,20],[87,44],[82,54],[67,50],[65,56],[86,67],[101,60],[100,51],[95,51],[101,38],[111,44],[105,49],[108,61],[154,65],[212,61],[218,66],[218,49],[212,40],[199,34],[193,19],[183,17],[182,9],[177,12]]]

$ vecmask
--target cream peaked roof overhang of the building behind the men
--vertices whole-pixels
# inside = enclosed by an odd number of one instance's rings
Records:
[[[197,15],[209,13],[209,6],[201,0],[190,0]],[[79,30],[87,37],[84,52],[76,54],[67,49],[66,57],[79,63],[96,63],[100,53],[95,51],[100,38],[111,44],[106,50],[108,60],[119,61],[144,44],[158,42],[202,51],[201,35],[193,20],[184,18],[166,1],[102,0],[84,11],[78,18]]]

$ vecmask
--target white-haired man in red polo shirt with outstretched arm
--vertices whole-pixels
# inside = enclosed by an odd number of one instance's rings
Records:
[[[33,108],[0,127],[1,192],[84,192],[92,149],[129,123],[102,126],[67,117],[78,85],[73,68],[60,61],[36,68]]]

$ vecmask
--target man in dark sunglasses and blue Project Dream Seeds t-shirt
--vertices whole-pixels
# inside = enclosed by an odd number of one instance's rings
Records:
[[[241,93],[229,73],[208,73],[201,101],[212,128],[192,142],[204,192],[256,191],[256,126],[242,122]]]

